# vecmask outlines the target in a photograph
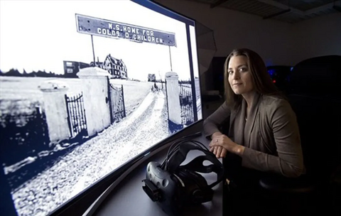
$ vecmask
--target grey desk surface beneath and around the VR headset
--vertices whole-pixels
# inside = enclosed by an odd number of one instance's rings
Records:
[[[204,136],[197,137],[193,140],[200,141],[208,147],[209,141]],[[155,156],[151,156],[148,160],[144,161],[141,165],[136,167],[134,171],[129,173],[124,180],[112,190],[107,198],[98,207],[94,215],[108,216],[108,215],[129,215],[129,216],[142,216],[142,215],[158,215],[166,216],[166,213],[161,210],[161,207],[153,202],[142,189],[144,183],[142,180],[146,176],[146,166],[150,161],[158,161],[162,163],[166,156],[168,148],[160,151]],[[190,151],[183,164],[188,163],[193,158],[202,155],[200,151]],[[217,180],[215,173],[202,174],[207,183],[210,184]],[[215,185],[212,188],[215,193],[211,202],[205,202],[199,207],[189,207],[183,210],[183,215],[222,215],[222,183]]]

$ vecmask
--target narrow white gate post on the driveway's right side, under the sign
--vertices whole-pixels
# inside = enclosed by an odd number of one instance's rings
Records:
[[[168,126],[174,132],[183,129],[181,122],[179,77],[176,72],[166,72],[166,95],[168,104]]]

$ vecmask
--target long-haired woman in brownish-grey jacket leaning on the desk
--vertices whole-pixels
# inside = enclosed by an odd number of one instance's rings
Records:
[[[296,178],[304,173],[296,114],[281,96],[261,57],[236,49],[224,64],[226,101],[203,127],[217,158],[232,155],[242,168]],[[228,134],[220,126],[229,121]],[[227,168],[228,171],[228,168]]]

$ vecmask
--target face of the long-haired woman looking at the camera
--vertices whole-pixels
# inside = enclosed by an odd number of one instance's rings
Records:
[[[229,85],[234,94],[244,95],[254,90],[251,72],[247,65],[247,57],[244,55],[232,56],[227,68]]]

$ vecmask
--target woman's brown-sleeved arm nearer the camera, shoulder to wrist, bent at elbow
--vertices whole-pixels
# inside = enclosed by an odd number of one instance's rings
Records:
[[[244,167],[286,177],[298,177],[303,173],[304,165],[296,114],[284,100],[276,106],[271,106],[268,113],[278,156],[244,146],[237,146],[232,151],[242,157]]]

